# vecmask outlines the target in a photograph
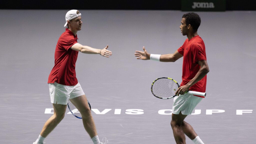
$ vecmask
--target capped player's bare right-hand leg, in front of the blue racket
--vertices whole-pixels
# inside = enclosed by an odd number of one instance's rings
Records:
[[[82,115],[83,125],[89,136],[93,138],[97,136],[96,127],[92,118],[90,107],[88,106],[85,95],[70,99],[72,104],[79,110]]]

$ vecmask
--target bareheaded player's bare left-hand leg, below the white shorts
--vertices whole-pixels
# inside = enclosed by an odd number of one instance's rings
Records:
[[[182,129],[182,123],[186,116],[187,115],[182,115],[181,112],[179,114],[172,114],[171,126],[177,144],[186,143],[186,137]]]

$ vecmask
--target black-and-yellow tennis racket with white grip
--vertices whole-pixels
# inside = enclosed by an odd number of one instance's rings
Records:
[[[175,92],[179,87],[180,85],[174,79],[161,77],[153,81],[151,92],[157,98],[170,99],[177,96],[175,95]],[[186,93],[204,97],[206,96],[205,92],[187,91]]]

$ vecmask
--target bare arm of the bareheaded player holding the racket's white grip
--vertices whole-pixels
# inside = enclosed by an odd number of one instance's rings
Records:
[[[195,75],[193,79],[191,79],[186,85],[179,87],[179,89],[176,91],[176,95],[184,95],[188,89],[193,86],[195,83],[197,83],[199,80],[201,80],[207,73],[209,73],[209,67],[206,60],[199,60],[197,62],[200,65],[200,69]]]

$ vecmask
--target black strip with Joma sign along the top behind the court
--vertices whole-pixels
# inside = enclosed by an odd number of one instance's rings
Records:
[[[0,9],[251,11],[256,10],[254,3],[254,0],[3,0]]]

